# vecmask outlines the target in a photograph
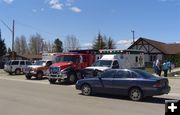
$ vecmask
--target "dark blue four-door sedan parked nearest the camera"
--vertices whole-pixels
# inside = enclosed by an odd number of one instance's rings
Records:
[[[167,78],[156,77],[139,69],[107,70],[97,77],[78,80],[76,89],[86,96],[92,93],[117,94],[129,96],[133,101],[170,92]]]

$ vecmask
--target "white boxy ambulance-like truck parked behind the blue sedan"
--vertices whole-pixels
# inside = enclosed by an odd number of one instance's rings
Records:
[[[107,69],[144,68],[144,52],[142,50],[100,50],[97,60],[86,67],[86,73],[105,71]]]

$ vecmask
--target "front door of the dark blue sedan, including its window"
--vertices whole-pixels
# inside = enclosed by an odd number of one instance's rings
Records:
[[[116,70],[109,70],[104,72],[100,77],[99,77],[99,82],[100,86],[98,88],[98,92],[102,93],[111,93],[112,92],[112,80],[113,77],[116,73]]]

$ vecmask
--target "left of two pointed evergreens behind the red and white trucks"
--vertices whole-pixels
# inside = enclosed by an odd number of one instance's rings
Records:
[[[102,36],[101,33],[98,33],[97,38],[93,41],[93,49],[99,50],[99,49],[106,49],[106,36]]]

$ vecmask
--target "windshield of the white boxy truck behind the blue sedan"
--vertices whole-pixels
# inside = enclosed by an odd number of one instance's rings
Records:
[[[93,66],[111,67],[112,60],[98,60]]]

